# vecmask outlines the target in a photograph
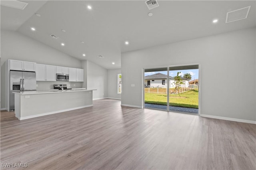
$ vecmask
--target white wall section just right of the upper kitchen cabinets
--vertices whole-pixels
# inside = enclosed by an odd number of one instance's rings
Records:
[[[108,96],[108,71],[103,67],[87,60],[87,89],[93,91],[93,99],[102,99]]]

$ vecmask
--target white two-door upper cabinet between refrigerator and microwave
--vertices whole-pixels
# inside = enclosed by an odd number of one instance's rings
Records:
[[[56,66],[36,64],[36,81],[56,81]]]

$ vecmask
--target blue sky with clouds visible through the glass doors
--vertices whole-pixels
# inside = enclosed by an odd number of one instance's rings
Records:
[[[179,75],[183,76],[185,73],[190,73],[191,74],[191,77],[192,79],[191,80],[194,80],[194,79],[198,79],[198,69],[188,69],[188,70],[172,70],[170,71],[169,75],[171,77],[174,77],[177,75],[177,72],[181,72]],[[156,74],[156,73],[162,73],[162,74],[165,74],[167,75],[167,71],[156,71],[156,72],[145,72],[145,76],[147,75],[153,75],[153,74]]]

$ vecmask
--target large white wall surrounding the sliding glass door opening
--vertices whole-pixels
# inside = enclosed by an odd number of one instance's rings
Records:
[[[200,63],[201,114],[256,121],[255,37],[250,28],[122,53],[122,105],[142,107],[142,68]]]

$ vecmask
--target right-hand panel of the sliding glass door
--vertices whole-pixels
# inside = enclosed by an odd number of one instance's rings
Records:
[[[169,67],[169,110],[198,113],[198,65]]]

